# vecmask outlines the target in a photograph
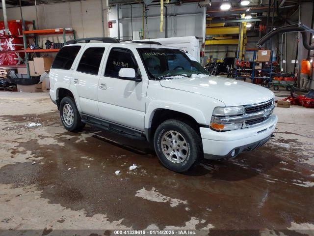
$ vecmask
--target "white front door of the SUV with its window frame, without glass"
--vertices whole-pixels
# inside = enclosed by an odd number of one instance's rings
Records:
[[[104,76],[110,49],[116,47],[127,48],[132,51],[142,75],[141,82]],[[106,89],[101,89],[101,84],[105,84]],[[128,44],[111,45],[106,55],[98,86],[100,118],[144,131],[147,85],[148,77],[136,49],[130,48]]]

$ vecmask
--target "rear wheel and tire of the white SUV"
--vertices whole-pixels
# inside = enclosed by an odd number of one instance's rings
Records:
[[[77,105],[73,97],[64,97],[60,102],[60,118],[66,130],[71,132],[81,131],[85,123],[79,115]]]

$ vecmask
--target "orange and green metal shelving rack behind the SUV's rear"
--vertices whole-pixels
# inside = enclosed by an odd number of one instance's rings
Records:
[[[38,35],[51,35],[51,34],[62,34],[63,35],[63,43],[66,42],[65,36],[66,34],[73,34],[74,39],[76,38],[75,30],[67,30],[65,28],[57,28],[57,29],[34,29],[34,30],[25,30],[23,31],[23,40],[24,40],[24,48],[25,48],[25,64],[27,76],[30,78],[29,73],[29,63],[28,63],[28,54],[29,53],[57,53],[60,49],[30,49],[27,48],[26,35],[32,35],[35,38],[35,44],[38,45]]]

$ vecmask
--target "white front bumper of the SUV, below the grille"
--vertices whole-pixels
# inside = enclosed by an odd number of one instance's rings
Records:
[[[221,159],[243,151],[253,150],[265,144],[276,128],[278,118],[272,115],[266,122],[250,128],[226,132],[216,132],[210,128],[200,128],[204,157]]]

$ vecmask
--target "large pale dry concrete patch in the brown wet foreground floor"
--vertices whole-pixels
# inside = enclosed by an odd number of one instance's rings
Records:
[[[170,207],[177,207],[179,204],[187,204],[187,201],[170,198],[162,195],[161,193],[158,193],[156,188],[154,187],[152,188],[152,190],[146,190],[145,188],[138,190],[135,194],[135,197],[141,197],[143,199],[157,203],[169,202]]]

